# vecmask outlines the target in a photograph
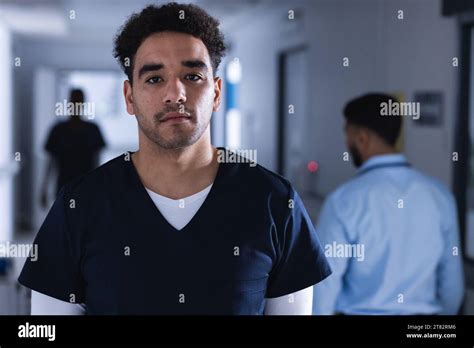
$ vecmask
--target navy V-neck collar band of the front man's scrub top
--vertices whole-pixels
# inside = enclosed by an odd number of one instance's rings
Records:
[[[217,149],[227,151],[224,148],[217,147]],[[212,202],[216,199],[216,196],[218,195],[218,190],[220,188],[221,182],[224,179],[224,172],[225,172],[225,162],[221,162],[218,165],[217,168],[217,173],[216,177],[214,178],[214,182],[212,184],[211,190],[207,194],[204,202],[201,204],[199,207],[198,211],[194,214],[194,216],[191,218],[191,220],[180,230],[176,229],[174,226],[172,226],[168,220],[163,216],[163,214],[160,212],[160,210],[157,208],[155,203],[153,202],[153,199],[150,197],[148,192],[146,191],[145,185],[143,185],[140,176],[138,174],[138,170],[133,164],[132,161],[132,154],[134,152],[129,152],[130,155],[130,160],[125,161],[127,163],[127,171],[129,173],[129,178],[131,179],[131,185],[130,185],[130,190],[132,191],[131,197],[134,199],[130,202],[132,205],[131,207],[140,207],[142,208],[142,211],[137,212],[139,216],[143,217],[144,219],[151,220],[153,222],[153,226],[164,226],[165,229],[171,230],[174,233],[183,233],[186,232],[189,229],[192,229],[192,227],[199,222],[200,219],[202,219],[203,215],[211,215],[212,214],[212,209],[211,211],[208,212],[210,209],[210,205]],[[140,202],[143,202],[143,205],[140,204]]]

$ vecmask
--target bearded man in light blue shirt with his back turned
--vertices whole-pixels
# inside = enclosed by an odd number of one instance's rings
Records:
[[[314,287],[313,314],[459,311],[456,204],[446,187],[396,152],[401,116],[380,112],[390,99],[393,105],[391,96],[368,94],[344,109],[358,172],[327,198],[317,223],[333,274]]]

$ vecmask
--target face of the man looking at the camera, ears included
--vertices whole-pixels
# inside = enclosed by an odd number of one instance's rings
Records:
[[[141,133],[164,149],[201,138],[219,108],[220,91],[204,43],[176,32],[146,38],[135,54],[133,87],[124,83],[128,113],[136,115]]]

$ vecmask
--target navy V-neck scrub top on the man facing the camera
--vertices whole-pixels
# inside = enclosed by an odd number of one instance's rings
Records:
[[[220,163],[176,230],[121,155],[63,187],[34,243],[19,282],[87,314],[263,314],[331,273],[290,183],[248,163]]]

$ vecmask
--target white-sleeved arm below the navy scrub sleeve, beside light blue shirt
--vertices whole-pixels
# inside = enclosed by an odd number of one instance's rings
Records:
[[[313,287],[275,298],[268,298],[265,315],[311,315]]]

